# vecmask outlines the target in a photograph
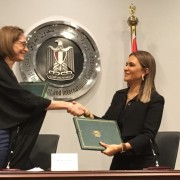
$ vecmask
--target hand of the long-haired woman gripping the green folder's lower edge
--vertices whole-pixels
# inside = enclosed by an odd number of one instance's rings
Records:
[[[104,151],[102,151],[102,153],[107,156],[114,156],[114,154],[122,151],[121,144],[106,144],[100,142],[100,145],[106,148]]]

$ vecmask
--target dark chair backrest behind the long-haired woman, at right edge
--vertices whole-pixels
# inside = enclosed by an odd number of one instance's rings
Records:
[[[179,148],[180,132],[161,131],[157,133],[156,143],[159,148],[159,166],[175,168]]]

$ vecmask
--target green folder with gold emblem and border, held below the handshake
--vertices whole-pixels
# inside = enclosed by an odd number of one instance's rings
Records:
[[[107,144],[122,143],[116,121],[73,117],[81,149],[102,151],[99,142]]]

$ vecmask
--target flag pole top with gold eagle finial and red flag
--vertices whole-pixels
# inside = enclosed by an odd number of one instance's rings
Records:
[[[128,18],[127,22],[131,29],[131,49],[132,49],[132,52],[134,52],[134,51],[137,51],[136,26],[139,22],[138,18],[135,16],[136,6],[131,4],[129,7],[129,12],[131,16]]]

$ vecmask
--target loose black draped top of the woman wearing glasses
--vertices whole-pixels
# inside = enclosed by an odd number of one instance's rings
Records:
[[[11,168],[24,169],[51,101],[23,89],[2,57],[0,99],[0,129],[9,129],[9,150],[13,149],[7,162]]]

